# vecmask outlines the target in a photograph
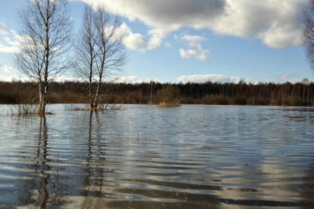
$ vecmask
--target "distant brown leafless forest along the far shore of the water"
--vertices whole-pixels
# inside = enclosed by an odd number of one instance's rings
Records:
[[[35,84],[33,84],[36,86]],[[156,92],[166,84],[116,83],[106,84],[116,92],[116,103],[156,104]],[[313,106],[314,83],[304,79],[297,83],[175,83],[181,91],[181,104],[233,104],[233,105],[279,105]],[[73,81],[52,82],[49,85],[48,103],[82,103],[85,101],[82,84]],[[104,88],[101,94],[106,94]],[[36,97],[35,88],[21,81],[0,81],[0,103],[18,103],[21,98]]]

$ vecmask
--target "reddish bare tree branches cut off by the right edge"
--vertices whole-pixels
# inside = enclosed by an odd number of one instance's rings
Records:
[[[306,59],[311,69],[314,70],[314,0],[308,0],[308,6],[303,11],[301,22],[304,25],[302,41]]]

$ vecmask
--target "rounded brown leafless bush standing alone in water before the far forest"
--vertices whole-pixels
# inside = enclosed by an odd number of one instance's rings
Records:
[[[167,84],[156,93],[158,105],[164,107],[180,106],[180,89],[171,84]]]

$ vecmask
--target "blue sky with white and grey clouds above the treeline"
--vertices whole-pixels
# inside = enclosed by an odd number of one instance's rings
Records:
[[[307,0],[98,1],[122,17],[126,82],[314,81],[301,46]],[[0,80],[19,79],[12,53],[21,35],[17,9],[26,3],[0,0]],[[69,1],[76,28],[85,3],[96,1]]]

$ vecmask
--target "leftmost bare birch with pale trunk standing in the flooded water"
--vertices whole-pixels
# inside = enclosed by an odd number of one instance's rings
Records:
[[[15,67],[39,90],[38,113],[46,113],[48,86],[71,66],[73,22],[67,0],[28,0],[18,10],[19,50]]]

